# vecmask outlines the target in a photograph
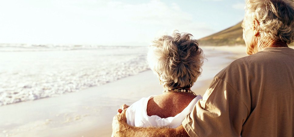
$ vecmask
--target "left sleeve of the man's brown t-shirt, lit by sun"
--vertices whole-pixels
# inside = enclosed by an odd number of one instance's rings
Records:
[[[240,136],[248,108],[231,85],[214,78],[192,112],[182,122],[189,136]]]

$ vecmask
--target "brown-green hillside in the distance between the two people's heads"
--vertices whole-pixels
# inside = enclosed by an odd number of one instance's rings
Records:
[[[202,46],[235,46],[245,45],[243,40],[242,21],[235,26],[229,27],[218,33],[199,39],[199,45]],[[294,45],[291,43],[290,45]]]

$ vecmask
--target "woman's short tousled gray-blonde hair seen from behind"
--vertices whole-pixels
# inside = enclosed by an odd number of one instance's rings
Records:
[[[203,52],[189,33],[162,36],[149,46],[147,62],[164,88],[190,88],[202,72]]]

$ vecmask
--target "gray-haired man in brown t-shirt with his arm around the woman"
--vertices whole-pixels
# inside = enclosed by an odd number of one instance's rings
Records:
[[[215,76],[182,126],[129,126],[123,110],[114,136],[294,136],[293,0],[246,0],[242,27],[250,56]]]

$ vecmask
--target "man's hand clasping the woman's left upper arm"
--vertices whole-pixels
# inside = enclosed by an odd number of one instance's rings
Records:
[[[127,119],[125,117],[125,111],[126,111],[126,109],[122,110],[121,113],[118,113],[117,115],[115,115],[113,117],[113,120],[112,120],[112,137],[121,136],[120,131],[122,131],[124,126],[127,124]]]

